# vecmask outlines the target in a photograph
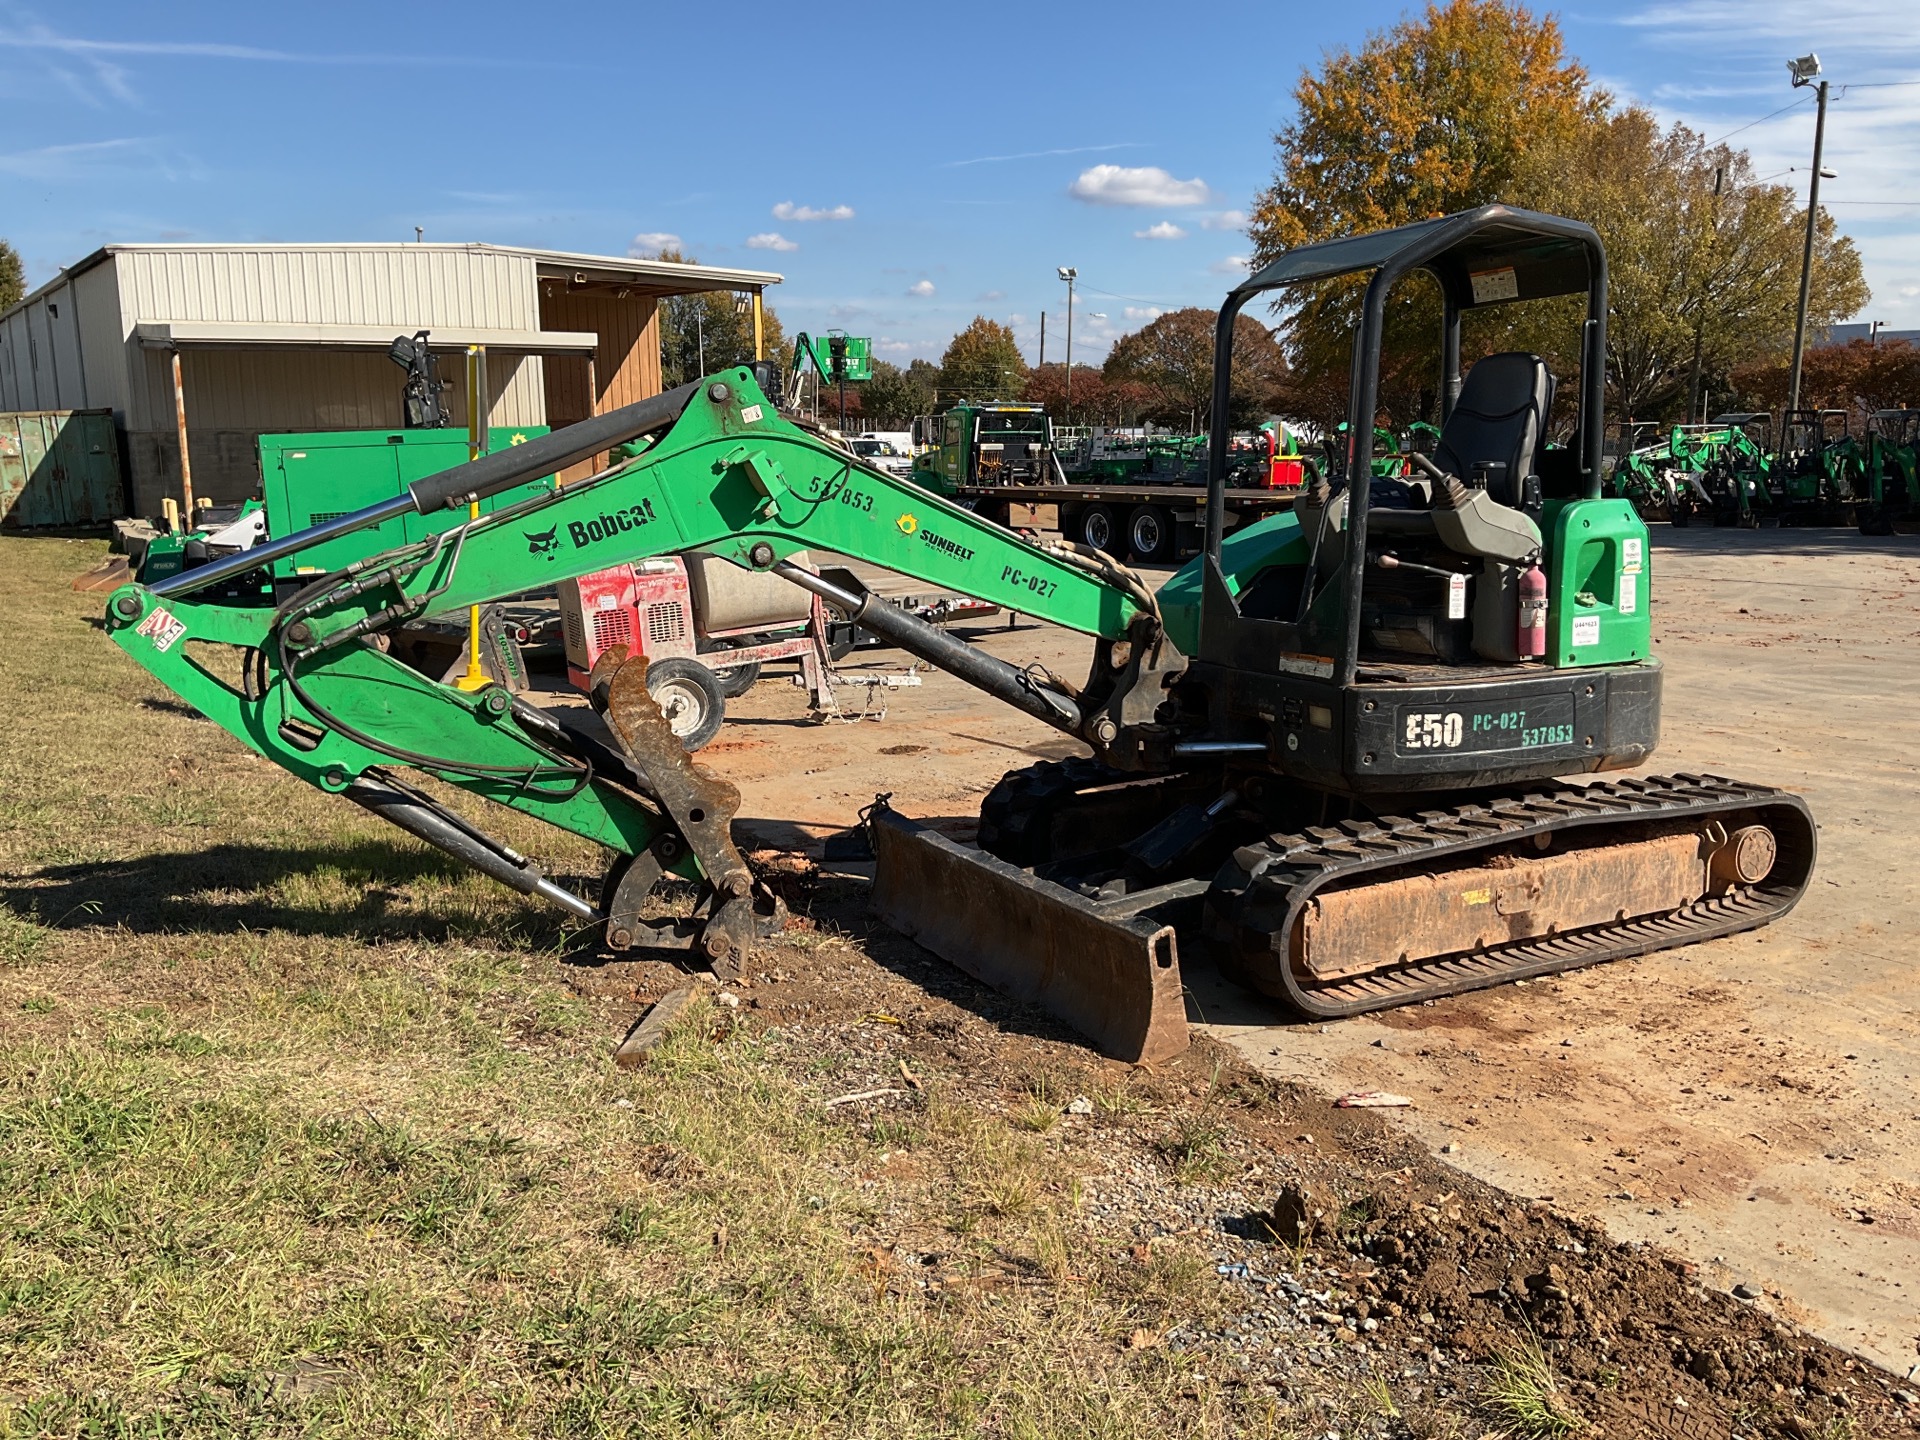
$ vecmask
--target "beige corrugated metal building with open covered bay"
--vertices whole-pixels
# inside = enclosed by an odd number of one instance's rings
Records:
[[[753,305],[770,271],[482,244],[106,246],[0,315],[0,413],[111,409],[134,515],[192,490],[255,493],[255,440],[401,422],[386,349],[488,348],[490,424],[549,424],[660,390],[657,303],[730,290]],[[461,365],[453,422],[465,424]]]

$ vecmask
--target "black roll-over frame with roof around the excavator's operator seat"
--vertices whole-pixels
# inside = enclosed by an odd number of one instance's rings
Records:
[[[1517,294],[1476,301],[1475,275],[1513,269]],[[1607,388],[1607,252],[1594,227],[1559,215],[1542,215],[1511,205],[1480,205],[1457,215],[1402,225],[1375,234],[1344,236],[1315,246],[1288,250],[1271,265],[1235,286],[1219,307],[1213,328],[1213,415],[1208,434],[1208,564],[1219,568],[1225,532],[1227,409],[1233,394],[1233,324],[1240,309],[1260,294],[1340,275],[1373,271],[1354,338],[1354,371],[1348,384],[1346,472],[1348,472],[1348,576],[1346,641],[1334,668],[1334,684],[1352,685],[1359,670],[1359,588],[1367,566],[1367,492],[1354,484],[1371,474],[1373,415],[1380,394],[1380,344],[1386,296],[1413,271],[1427,271],[1440,284],[1440,419],[1453,413],[1459,399],[1461,315],[1475,307],[1546,300],[1586,292],[1580,361],[1580,492],[1599,499],[1599,455],[1605,430]]]

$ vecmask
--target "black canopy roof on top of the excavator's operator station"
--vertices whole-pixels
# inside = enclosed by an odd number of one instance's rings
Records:
[[[1511,205],[1480,205],[1392,230],[1288,250],[1235,286],[1229,303],[1340,275],[1425,269],[1459,309],[1586,294],[1599,236],[1580,221]]]

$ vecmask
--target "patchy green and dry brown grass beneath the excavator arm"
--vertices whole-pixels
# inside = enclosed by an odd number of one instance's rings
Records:
[[[1037,1121],[826,1108],[712,1002],[614,1069],[553,912],[171,701],[102,549],[0,540],[0,1434],[1267,1428],[1125,1344],[1217,1306],[1198,1242],[1089,1254]],[[902,1206],[1020,1283],[902,1292]]]

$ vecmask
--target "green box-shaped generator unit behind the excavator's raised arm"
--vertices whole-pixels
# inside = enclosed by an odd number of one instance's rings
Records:
[[[488,453],[520,445],[547,434],[543,424],[495,426],[488,432]],[[290,536],[342,515],[394,499],[415,480],[467,463],[465,430],[321,430],[305,436],[261,436],[259,476],[267,501],[267,534]],[[480,501],[482,515],[518,505],[557,488],[555,476],[541,476]],[[407,545],[459,524],[467,511],[440,509],[407,515],[371,530],[315,545],[298,557],[276,561],[275,586],[340,570],[363,555]]]

